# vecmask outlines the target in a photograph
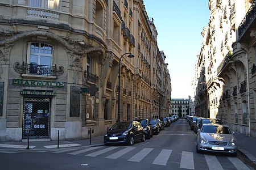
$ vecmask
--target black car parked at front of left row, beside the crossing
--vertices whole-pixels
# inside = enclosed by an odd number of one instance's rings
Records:
[[[122,121],[116,122],[104,134],[104,144],[117,144],[125,143],[133,145],[134,141],[141,140],[144,142],[146,139],[144,129],[138,121]]]

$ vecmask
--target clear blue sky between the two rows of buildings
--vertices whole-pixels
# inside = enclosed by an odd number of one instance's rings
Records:
[[[144,0],[147,15],[158,31],[158,48],[171,75],[171,98],[188,99],[200,53],[201,32],[209,23],[207,0]]]

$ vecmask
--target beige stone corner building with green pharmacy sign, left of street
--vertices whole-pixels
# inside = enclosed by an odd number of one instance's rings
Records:
[[[143,1],[6,0],[0,9],[0,141],[102,135],[118,119],[159,116],[158,96],[170,104]]]

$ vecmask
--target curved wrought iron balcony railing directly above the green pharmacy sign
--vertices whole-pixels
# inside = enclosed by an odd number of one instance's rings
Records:
[[[14,70],[20,74],[31,74],[31,75],[46,75],[46,76],[58,76],[64,73],[64,67],[59,66],[47,66],[47,65],[37,65],[33,63],[14,63]]]

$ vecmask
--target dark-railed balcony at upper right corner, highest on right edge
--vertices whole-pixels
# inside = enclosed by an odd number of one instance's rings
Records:
[[[245,18],[243,18],[241,24],[238,27],[238,42],[246,41],[250,39],[249,28],[254,28],[256,26],[256,0],[253,1],[251,7],[247,11]]]

